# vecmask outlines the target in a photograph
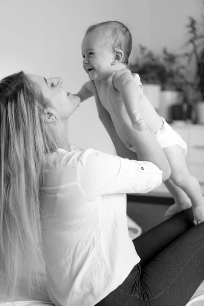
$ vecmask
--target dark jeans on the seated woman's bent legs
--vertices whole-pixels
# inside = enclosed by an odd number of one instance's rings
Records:
[[[140,263],[96,305],[185,306],[204,279],[204,222],[193,226],[188,209],[133,243]]]

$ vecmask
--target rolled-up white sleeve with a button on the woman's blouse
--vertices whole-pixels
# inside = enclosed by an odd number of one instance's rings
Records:
[[[78,185],[93,200],[114,193],[147,193],[162,183],[162,171],[151,162],[123,159],[88,149],[78,160]]]

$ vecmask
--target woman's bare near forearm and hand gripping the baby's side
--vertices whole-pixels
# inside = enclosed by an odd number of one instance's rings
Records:
[[[159,143],[157,142],[155,136],[150,132],[148,127],[143,131],[137,131],[134,129],[133,125],[130,124],[130,119],[126,120],[127,116],[124,115],[126,112],[125,108],[119,107],[118,109],[118,100],[120,93],[113,85],[113,76],[110,75],[107,80],[109,92],[112,98],[113,105],[118,114],[118,118],[121,121],[121,124],[125,127],[125,130],[129,134],[134,146],[137,148],[137,155],[141,161],[149,161],[158,166],[159,169],[163,171],[162,178],[163,182],[168,179],[170,176],[171,170],[168,163],[168,160],[161,149]],[[135,120],[139,123],[143,123],[144,120],[141,118],[139,113],[136,113]]]

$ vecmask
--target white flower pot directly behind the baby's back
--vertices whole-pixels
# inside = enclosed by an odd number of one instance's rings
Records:
[[[157,84],[143,84],[143,89],[150,103],[156,110],[159,110],[161,86]]]

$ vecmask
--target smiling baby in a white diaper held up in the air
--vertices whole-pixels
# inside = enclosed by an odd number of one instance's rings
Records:
[[[101,104],[109,112],[120,139],[127,148],[137,152],[111,103],[107,79],[115,72],[113,85],[119,93],[118,103],[121,107],[125,106],[132,121],[130,123],[137,130],[145,128],[143,124],[138,124],[136,116],[138,112],[142,115],[170,164],[171,176],[165,185],[174,197],[175,204],[168,209],[166,216],[170,217],[192,206],[194,224],[199,224],[204,221],[204,197],[198,181],[190,175],[186,166],[187,145],[165,119],[158,115],[145,94],[142,94],[142,84],[137,82],[137,85],[134,75],[126,69],[131,50],[132,36],[123,23],[106,21],[92,25],[82,41],[84,69],[89,79],[94,81]],[[81,98],[81,102],[91,97],[91,81],[85,83],[76,95]]]

